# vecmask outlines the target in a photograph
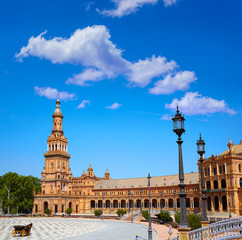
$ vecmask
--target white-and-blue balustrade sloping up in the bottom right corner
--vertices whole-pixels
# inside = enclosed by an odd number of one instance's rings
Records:
[[[190,240],[242,238],[242,218],[226,219],[189,232]]]

